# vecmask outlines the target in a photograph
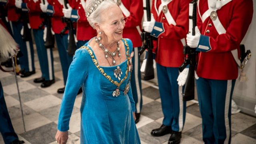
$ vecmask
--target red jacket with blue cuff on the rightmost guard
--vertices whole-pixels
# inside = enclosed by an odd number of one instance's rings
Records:
[[[227,0],[226,0],[227,1]],[[222,2],[222,1],[221,1]],[[217,10],[219,22],[226,32],[220,34],[217,24],[209,16],[202,15],[209,9],[207,0],[198,3],[198,28],[201,32],[198,44],[198,66],[196,73],[199,77],[214,80],[232,80],[238,77],[238,65],[231,50],[238,50],[246,31],[252,21],[252,0],[231,0]],[[220,24],[218,23],[218,24]]]

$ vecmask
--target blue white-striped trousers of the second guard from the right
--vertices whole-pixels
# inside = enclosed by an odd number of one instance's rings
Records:
[[[163,124],[181,132],[186,118],[186,102],[182,101],[182,86],[178,86],[179,68],[156,64],[158,86],[164,114]]]

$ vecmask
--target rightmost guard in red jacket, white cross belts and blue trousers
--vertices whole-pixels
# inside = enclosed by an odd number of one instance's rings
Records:
[[[198,0],[195,36],[187,44],[198,51],[196,88],[205,144],[230,144],[231,100],[240,42],[252,21],[252,0]]]

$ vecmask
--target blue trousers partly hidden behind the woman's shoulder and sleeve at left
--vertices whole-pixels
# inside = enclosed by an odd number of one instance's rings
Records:
[[[55,40],[60,56],[64,85],[68,78],[68,68],[73,60],[73,56],[68,55],[68,34],[55,34]]]

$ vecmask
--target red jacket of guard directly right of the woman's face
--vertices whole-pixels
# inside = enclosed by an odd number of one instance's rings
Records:
[[[122,0],[124,7],[130,12],[126,14],[121,10],[125,17],[128,18],[123,30],[123,38],[132,40],[133,47],[142,46],[140,38],[141,22],[143,17],[143,1],[142,0]]]

